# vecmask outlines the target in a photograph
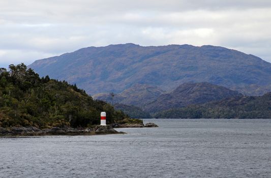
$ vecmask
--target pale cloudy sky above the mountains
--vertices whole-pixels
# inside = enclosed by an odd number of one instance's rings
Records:
[[[223,46],[271,62],[271,1],[0,0],[0,67],[124,43]]]

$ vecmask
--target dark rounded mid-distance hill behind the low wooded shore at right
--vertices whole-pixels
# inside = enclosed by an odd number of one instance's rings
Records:
[[[184,83],[168,94],[160,95],[154,102],[147,104],[144,110],[155,113],[162,110],[219,101],[223,98],[242,96],[224,86],[212,83]]]

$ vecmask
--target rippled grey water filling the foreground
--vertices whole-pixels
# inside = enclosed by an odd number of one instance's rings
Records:
[[[0,177],[271,177],[271,120],[144,120],[125,135],[0,138]]]

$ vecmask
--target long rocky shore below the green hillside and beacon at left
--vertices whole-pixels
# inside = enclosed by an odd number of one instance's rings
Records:
[[[118,132],[112,126],[95,126],[93,128],[75,129],[71,127],[59,128],[53,127],[51,129],[39,129],[36,127],[0,127],[0,136],[43,136],[43,135],[98,135],[98,134],[124,134],[125,132]]]

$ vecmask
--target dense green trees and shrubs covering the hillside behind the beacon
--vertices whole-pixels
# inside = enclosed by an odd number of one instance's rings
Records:
[[[108,123],[128,117],[106,102],[93,100],[76,84],[40,78],[24,64],[0,69],[0,127],[88,127],[100,123],[101,111]]]

